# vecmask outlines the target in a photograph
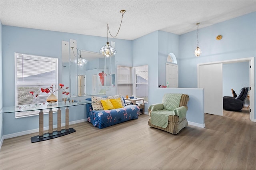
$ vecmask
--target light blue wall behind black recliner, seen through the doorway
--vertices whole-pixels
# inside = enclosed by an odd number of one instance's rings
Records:
[[[249,87],[249,62],[223,64],[223,96],[232,96],[231,89],[236,94],[242,87]]]

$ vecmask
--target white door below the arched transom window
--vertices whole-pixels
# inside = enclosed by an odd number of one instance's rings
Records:
[[[166,85],[167,84],[169,87],[178,87],[178,65],[166,63]]]

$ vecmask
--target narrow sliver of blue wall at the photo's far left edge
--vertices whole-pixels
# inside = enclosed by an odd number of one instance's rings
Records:
[[[0,21],[0,109],[2,109],[3,106],[3,89],[2,89],[2,23]],[[4,134],[4,128],[3,128],[3,115],[0,114],[0,148],[1,148],[1,141]]]

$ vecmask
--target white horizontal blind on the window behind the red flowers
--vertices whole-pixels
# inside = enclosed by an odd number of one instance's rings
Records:
[[[16,61],[16,93],[15,105],[30,105],[46,102],[49,93],[39,93],[36,97],[30,91],[37,93],[41,88],[49,88],[53,85],[56,89],[57,82],[57,61],[56,58],[43,57],[36,55],[28,55],[15,53]],[[57,92],[55,95],[58,95]],[[44,110],[44,113],[48,113]],[[15,117],[27,117],[38,115],[39,111],[17,112]]]

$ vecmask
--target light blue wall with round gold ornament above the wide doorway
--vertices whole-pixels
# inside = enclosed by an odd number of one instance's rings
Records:
[[[216,40],[218,35],[222,40]],[[200,57],[194,55],[196,45],[197,30],[180,36],[179,87],[197,87],[198,63],[254,57],[256,66],[256,12],[199,29]]]

